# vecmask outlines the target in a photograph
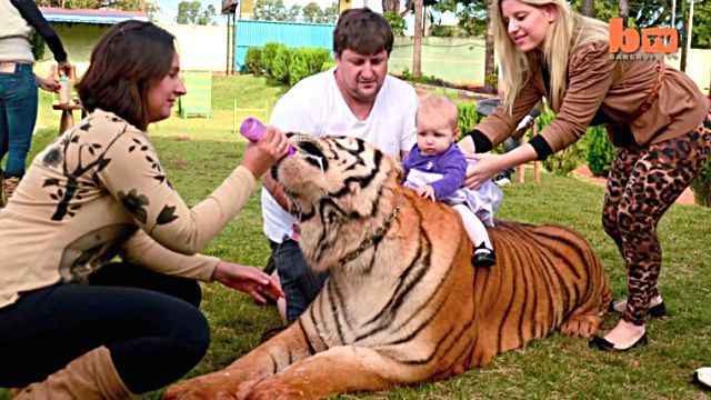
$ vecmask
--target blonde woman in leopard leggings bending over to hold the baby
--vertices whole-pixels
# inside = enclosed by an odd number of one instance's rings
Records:
[[[464,184],[475,188],[497,171],[545,159],[589,126],[607,124],[618,153],[602,223],[625,262],[628,297],[612,304],[624,312],[621,321],[590,346],[624,351],[647,344],[644,318],[665,313],[657,286],[662,260],[657,222],[709,158],[705,98],[684,73],[655,58],[611,54],[608,24],[574,13],[565,1],[495,0],[493,20],[507,93],[460,142],[462,150],[473,152],[475,144],[483,152],[500,143],[543,97],[557,114],[525,146],[471,156],[478,163]]]

